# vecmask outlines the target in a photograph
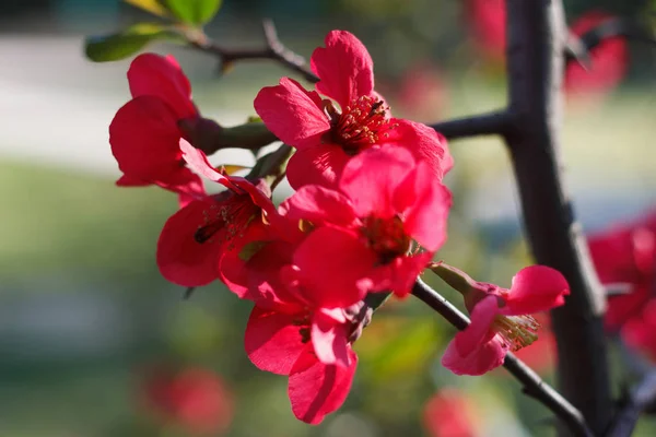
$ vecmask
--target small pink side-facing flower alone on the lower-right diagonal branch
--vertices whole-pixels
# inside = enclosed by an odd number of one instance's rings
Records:
[[[537,340],[539,324],[528,316],[564,304],[570,294],[562,274],[531,265],[513,277],[511,290],[479,283],[466,297],[471,323],[448,344],[442,364],[457,375],[483,375],[503,364],[506,352]]]

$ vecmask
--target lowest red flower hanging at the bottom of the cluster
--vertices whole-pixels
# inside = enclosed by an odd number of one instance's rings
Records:
[[[267,265],[284,272],[291,251],[288,257],[285,250],[277,252],[279,257],[268,259]],[[263,292],[259,296],[251,294],[256,307],[244,344],[259,369],[289,376],[294,415],[318,424],[349,394],[358,365],[351,343],[362,331],[363,304],[328,309],[323,306],[325,295],[295,281],[284,282],[273,279],[266,290],[259,288]]]

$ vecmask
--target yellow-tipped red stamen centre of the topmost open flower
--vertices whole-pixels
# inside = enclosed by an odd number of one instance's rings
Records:
[[[332,106],[330,101],[326,102],[326,113],[330,118],[332,129],[330,140],[343,147],[348,154],[355,154],[363,149],[376,144],[380,137],[387,137],[386,130],[393,129],[394,125],[385,118],[389,109],[383,101],[370,96],[361,96],[345,108],[342,113]]]

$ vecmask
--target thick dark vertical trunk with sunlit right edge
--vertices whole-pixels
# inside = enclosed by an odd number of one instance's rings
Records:
[[[561,176],[562,2],[506,0],[506,11],[509,110],[516,117],[506,143],[525,229],[537,262],[559,270],[571,288],[565,305],[551,312],[559,387],[601,435],[613,412],[601,318],[605,296]]]

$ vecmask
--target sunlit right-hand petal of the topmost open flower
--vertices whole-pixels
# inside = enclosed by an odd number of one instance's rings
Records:
[[[437,180],[442,180],[454,166],[446,139],[435,129],[415,121],[395,118],[396,127],[387,131],[385,145],[408,149],[417,161],[425,161]]]

